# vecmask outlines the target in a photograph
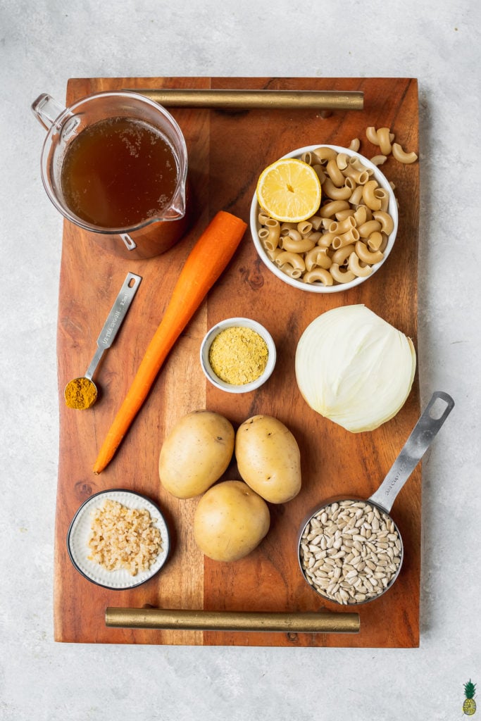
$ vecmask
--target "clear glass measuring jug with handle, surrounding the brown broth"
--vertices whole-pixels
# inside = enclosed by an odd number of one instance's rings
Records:
[[[179,125],[167,110],[140,94],[121,91],[93,94],[70,107],[63,107],[50,95],[43,93],[32,103],[32,111],[48,131],[41,157],[43,185],[53,205],[65,218],[84,229],[100,247],[129,260],[160,255],[180,240],[190,221],[186,193],[187,146]],[[100,128],[101,123],[112,124],[120,120],[131,123],[130,129],[148,128],[159,138],[162,137],[175,159],[175,187],[169,197],[162,197],[162,200],[159,198],[158,207],[152,208],[146,217],[137,218],[133,224],[127,226],[105,226],[95,224],[94,221],[79,216],[78,211],[72,210],[71,203],[69,205],[66,200],[62,172],[72,143],[78,140],[81,133],[93,133],[95,128]],[[84,138],[87,138],[87,135],[82,136],[82,142]],[[145,162],[146,166],[150,162],[146,157],[147,152],[146,148],[141,146],[142,155],[138,162]],[[113,162],[115,154],[112,155]],[[104,167],[99,171],[105,173],[106,167],[110,165],[104,162]],[[105,196],[105,202],[108,202],[106,180],[102,186],[96,172],[82,178],[82,182],[84,180],[96,182],[98,198]],[[129,182],[126,171],[124,181]]]

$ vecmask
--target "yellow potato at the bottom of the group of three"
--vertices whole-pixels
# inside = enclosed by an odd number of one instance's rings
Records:
[[[250,554],[269,530],[267,503],[242,481],[223,481],[200,498],[194,539],[214,561],[237,561]]]

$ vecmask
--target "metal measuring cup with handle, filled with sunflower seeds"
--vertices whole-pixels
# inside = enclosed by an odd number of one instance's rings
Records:
[[[389,512],[453,407],[447,393],[434,392],[384,481],[368,500],[330,500],[304,521],[299,565],[320,596],[358,605],[374,601],[392,587],[402,567],[404,545]]]

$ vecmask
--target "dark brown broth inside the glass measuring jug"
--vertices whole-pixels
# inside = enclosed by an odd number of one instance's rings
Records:
[[[171,144],[154,125],[108,118],[89,126],[66,152],[61,187],[78,218],[102,228],[129,228],[169,205],[177,187]]]

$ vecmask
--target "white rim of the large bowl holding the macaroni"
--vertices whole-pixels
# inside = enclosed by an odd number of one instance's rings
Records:
[[[270,257],[268,256],[267,252],[265,252],[264,247],[262,246],[262,243],[259,239],[259,230],[260,230],[260,224],[257,219],[257,216],[259,215],[260,207],[257,203],[257,197],[254,193],[254,197],[252,198],[252,203],[250,206],[250,231],[252,234],[252,240],[255,245],[255,249],[257,250],[257,253],[259,254],[261,260],[265,263],[265,265],[269,268],[269,270],[274,273],[278,278],[283,280],[284,283],[288,283],[289,286],[293,286],[294,288],[299,288],[301,291],[308,291],[309,293],[340,293],[341,291],[348,291],[349,288],[355,288],[356,286],[360,285],[361,283],[364,283],[365,280],[369,280],[369,278],[376,273],[376,270],[379,270],[381,265],[385,262],[387,257],[389,256],[389,253],[392,251],[392,247],[394,246],[394,241],[396,239],[397,235],[397,227],[398,227],[398,213],[397,213],[397,201],[394,196],[392,187],[389,185],[389,182],[385,175],[381,172],[379,167],[374,165],[374,163],[371,163],[370,160],[365,158],[363,155],[356,153],[356,151],[349,150],[348,148],[342,148],[337,145],[322,145],[319,143],[318,145],[309,145],[305,146],[304,148],[298,148],[297,150],[293,150],[291,153],[287,153],[283,156],[283,158],[301,158],[301,155],[313,151],[317,148],[331,148],[332,150],[335,150],[337,153],[345,153],[350,156],[358,157],[358,159],[361,161],[361,163],[366,166],[367,168],[371,169],[373,172],[374,178],[379,182],[379,185],[384,188],[384,190],[389,193],[389,207],[388,212],[389,215],[392,217],[392,220],[394,221],[394,229],[392,233],[389,235],[389,239],[387,242],[387,247],[384,250],[384,257],[381,260],[381,262],[376,263],[372,266],[372,272],[370,275],[367,275],[364,278],[356,278],[355,280],[351,280],[349,283],[338,283],[337,285],[332,286],[321,286],[317,284],[312,283],[303,283],[301,280],[296,280],[296,278],[291,278],[289,275],[286,275],[286,273],[283,273],[281,268],[279,268],[275,263],[270,260]]]

